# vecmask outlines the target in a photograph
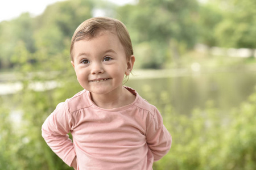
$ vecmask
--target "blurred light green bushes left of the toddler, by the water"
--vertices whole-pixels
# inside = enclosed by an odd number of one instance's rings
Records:
[[[24,48],[22,45],[21,47]],[[26,52],[25,49],[23,50]],[[72,169],[46,145],[41,135],[41,126],[57,103],[71,97],[67,93],[69,88],[76,89],[76,87],[65,86],[65,91],[60,88],[62,94],[58,90],[47,90],[48,86],[45,82],[51,76],[44,75],[47,73],[38,74],[39,76],[31,74],[34,68],[26,63],[26,59],[26,55],[18,59],[23,90],[13,96],[7,96],[8,100],[3,99],[2,101],[5,102],[1,101],[0,105],[0,144],[3,146],[0,169]],[[69,75],[68,71],[66,73],[65,76]],[[63,77],[60,75],[59,79]],[[55,81],[57,82],[58,79]],[[65,80],[62,79],[62,82]],[[36,88],[38,83],[42,85],[39,84],[39,88]],[[74,81],[72,83],[76,84]],[[9,110],[3,107],[10,104]],[[18,115],[14,114],[16,110],[20,111]],[[17,116],[20,116],[19,121],[11,120],[12,117]]]

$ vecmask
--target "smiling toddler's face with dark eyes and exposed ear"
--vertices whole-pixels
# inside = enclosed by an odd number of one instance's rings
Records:
[[[102,31],[90,40],[75,42],[71,61],[80,85],[92,94],[105,95],[122,89],[124,75],[133,69],[118,37]]]

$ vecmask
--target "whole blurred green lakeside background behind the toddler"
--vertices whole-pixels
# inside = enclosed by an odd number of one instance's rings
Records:
[[[256,1],[52,1],[2,18],[33,6],[20,2],[1,1],[0,169],[72,169],[41,126],[82,90],[69,46],[93,16],[129,29],[136,62],[126,86],[158,107],[172,135],[154,169],[256,169]]]

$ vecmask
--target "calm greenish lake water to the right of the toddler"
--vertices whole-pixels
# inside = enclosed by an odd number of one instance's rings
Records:
[[[172,108],[180,114],[191,114],[195,108],[204,108],[208,101],[222,112],[230,111],[247,100],[254,92],[256,73],[210,73],[181,75],[165,78],[130,79],[133,87],[151,104],[160,105],[163,94]],[[149,91],[153,91],[154,95]]]

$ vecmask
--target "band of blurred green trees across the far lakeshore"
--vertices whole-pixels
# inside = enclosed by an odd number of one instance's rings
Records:
[[[228,48],[254,49],[256,45],[251,38],[256,35],[254,1],[141,0],[125,6],[106,1],[63,1],[34,18],[24,13],[0,23],[0,69],[16,67],[11,56],[20,42],[31,53],[32,65],[41,62],[42,55],[46,59],[62,55],[69,49],[76,27],[96,9],[126,24],[140,68],[183,66],[181,56],[198,42]],[[253,53],[251,50],[251,56]]]

